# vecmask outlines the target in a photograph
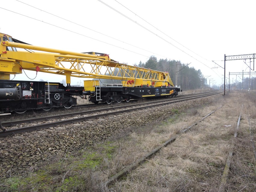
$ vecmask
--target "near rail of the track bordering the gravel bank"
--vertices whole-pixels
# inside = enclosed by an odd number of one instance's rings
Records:
[[[181,101],[197,99],[197,98],[206,97],[206,96],[212,96],[212,95],[219,94],[219,93],[222,93],[222,92],[211,93],[209,95],[196,96],[193,98],[180,99],[180,100],[175,100],[175,101],[165,102],[165,103],[160,103],[160,104],[158,103],[158,104],[153,104],[153,105],[140,106],[140,107],[136,107],[136,108],[124,109],[124,110],[120,110],[120,111],[113,111],[113,112],[108,112],[108,113],[103,113],[103,114],[96,114],[96,115],[91,115],[91,116],[87,116],[87,117],[79,117],[79,118],[75,118],[75,119],[68,119],[68,120],[62,120],[62,121],[57,121],[57,122],[52,122],[52,123],[44,123],[44,124],[23,127],[23,128],[13,129],[13,130],[6,130],[6,131],[0,132],[0,137],[6,137],[6,136],[14,135],[17,133],[35,131],[35,130],[49,128],[49,127],[53,127],[53,126],[57,126],[57,125],[66,125],[66,124],[70,124],[70,123],[76,123],[76,122],[81,122],[81,121],[85,121],[85,120],[96,119],[99,117],[106,117],[106,116],[120,114],[120,113],[124,113],[124,112],[152,108],[152,107],[160,106],[160,105],[169,105],[169,104],[172,104],[175,102],[181,102]],[[138,104],[136,104],[136,105],[138,105]],[[139,105],[141,105],[141,104],[139,104]],[[130,105],[129,105],[129,107],[130,107]],[[108,109],[110,109],[110,108],[108,108]]]

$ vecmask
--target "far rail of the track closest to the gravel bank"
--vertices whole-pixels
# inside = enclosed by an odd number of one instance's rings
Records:
[[[207,94],[203,94],[203,95],[207,95]],[[183,98],[191,98],[191,97],[194,97],[194,96],[183,97]],[[80,112],[67,113],[67,114],[59,114],[59,115],[53,115],[53,116],[47,116],[47,117],[30,118],[30,119],[25,119],[25,120],[4,122],[4,123],[2,123],[2,126],[4,126],[4,127],[15,126],[17,124],[22,124],[22,123],[33,123],[33,122],[38,122],[38,121],[46,121],[46,120],[50,120],[50,119],[58,119],[58,118],[63,118],[63,117],[72,117],[73,115],[84,115],[84,114],[90,114],[90,113],[95,113],[95,112],[102,112],[102,111],[119,109],[119,108],[135,107],[135,106],[138,106],[138,105],[147,105],[147,104],[152,104],[152,103],[166,102],[166,101],[178,100],[178,99],[181,99],[181,98],[175,98],[175,99],[172,98],[172,99],[165,99],[165,100],[161,100],[161,101],[151,101],[151,102],[147,102],[147,103],[117,106],[117,107],[111,107],[111,108],[101,108],[101,109],[94,109],[94,110],[89,110],[89,111],[80,111]]]

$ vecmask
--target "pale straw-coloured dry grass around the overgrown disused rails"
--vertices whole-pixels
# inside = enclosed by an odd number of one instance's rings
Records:
[[[179,130],[215,110],[219,105],[224,105],[190,132],[179,135],[172,145],[162,149],[155,157],[114,184],[115,187],[110,187],[111,191],[218,191],[243,102],[246,103],[243,101],[242,95],[229,93],[224,98],[213,100],[207,108],[191,109],[161,128],[145,129],[144,134],[141,133],[142,131],[139,134],[133,133],[130,149],[135,152],[138,150],[139,153],[143,153],[141,149],[144,149],[146,153],[169,139],[170,136],[177,134]],[[253,107],[250,98],[248,98],[248,102],[247,107]],[[253,115],[250,114],[250,117]],[[231,126],[226,127],[225,125]],[[248,150],[250,143],[240,142],[239,145],[243,146],[243,148],[239,148],[244,151],[244,157],[236,158],[236,163],[233,163],[234,166],[238,164],[239,169],[236,168],[238,170],[234,175],[230,173],[226,189],[227,191],[238,191],[246,188],[247,191],[254,191],[256,189],[253,182],[255,160],[252,151]],[[236,145],[236,148],[239,145]],[[129,151],[128,148],[127,150]],[[233,169],[231,168],[232,173]],[[247,172],[248,175],[248,171],[251,172],[249,177],[245,174]],[[241,177],[235,181],[238,183],[237,186],[232,183],[234,182],[232,179],[237,178],[236,176]]]

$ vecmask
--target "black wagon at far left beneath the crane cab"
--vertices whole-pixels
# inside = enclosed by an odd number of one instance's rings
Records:
[[[0,111],[23,113],[28,109],[70,108],[77,103],[74,96],[82,96],[83,90],[56,82],[0,80]]]

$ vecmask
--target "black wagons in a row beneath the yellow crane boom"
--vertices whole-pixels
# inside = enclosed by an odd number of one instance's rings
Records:
[[[77,104],[77,97],[95,104],[99,102],[126,101],[130,99],[177,96],[179,87],[122,84],[99,84],[84,81],[85,87],[63,86],[61,83],[45,81],[0,80],[0,112],[24,113],[31,109],[50,110],[53,107],[70,108]],[[88,90],[88,86],[90,90]]]

